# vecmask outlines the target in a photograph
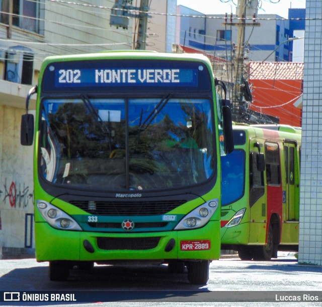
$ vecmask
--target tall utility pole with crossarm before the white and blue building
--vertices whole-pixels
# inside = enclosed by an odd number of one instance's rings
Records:
[[[246,26],[260,26],[255,22],[257,15],[258,0],[238,0],[236,16],[238,17],[237,23],[228,23],[228,25],[238,27],[237,42],[236,42],[236,57],[234,61],[235,75],[234,86],[232,92],[232,120],[236,122],[243,122],[244,118],[244,60],[245,60],[245,28]],[[248,14],[247,9],[252,8],[253,20],[251,23],[246,22]],[[226,25],[225,23],[223,25]]]

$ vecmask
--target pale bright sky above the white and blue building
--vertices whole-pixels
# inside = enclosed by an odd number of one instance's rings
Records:
[[[182,5],[203,14],[236,13],[238,0],[177,0]],[[259,0],[258,14],[277,14],[288,17],[288,9],[305,9],[305,0]]]

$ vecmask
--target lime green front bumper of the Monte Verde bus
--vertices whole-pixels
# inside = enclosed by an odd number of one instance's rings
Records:
[[[144,233],[64,231],[54,229],[46,222],[36,222],[35,232],[37,261],[213,260],[220,257],[220,221],[209,221],[204,227],[194,230]],[[122,242],[124,239],[125,241],[126,239],[129,241],[134,239],[135,242],[144,242],[144,238],[155,238],[157,244],[155,247],[147,249],[141,249],[141,246],[138,246],[138,249],[125,249],[126,245],[120,247],[120,244],[118,244],[118,249],[103,249],[98,245],[98,238],[102,238],[101,241],[104,241],[105,238],[114,238],[114,241],[117,241],[119,238]],[[141,240],[137,238],[141,238]],[[169,250],[170,240],[175,241],[174,244],[170,244],[173,245],[171,250]],[[181,241],[201,240],[210,241],[209,249],[181,250]],[[93,249],[88,246],[92,246]],[[100,246],[102,247],[101,244]]]

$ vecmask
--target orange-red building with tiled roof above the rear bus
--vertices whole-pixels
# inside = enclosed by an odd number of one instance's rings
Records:
[[[249,63],[253,98],[249,108],[256,112],[254,121],[302,125],[302,109],[296,102],[303,93],[303,67],[295,62]]]

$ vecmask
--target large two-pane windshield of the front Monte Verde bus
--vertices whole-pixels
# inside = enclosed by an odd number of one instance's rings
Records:
[[[215,171],[209,99],[44,98],[40,173],[79,189],[157,190]]]

